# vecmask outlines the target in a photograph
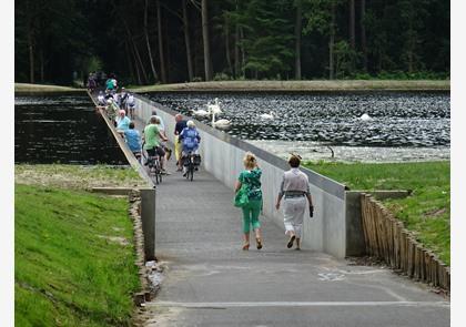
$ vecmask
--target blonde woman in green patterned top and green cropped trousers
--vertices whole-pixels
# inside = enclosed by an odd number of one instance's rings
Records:
[[[235,193],[242,188],[246,191],[249,202],[242,206],[243,211],[243,233],[244,244],[243,249],[250,249],[250,231],[251,226],[255,232],[255,242],[257,249],[262,248],[262,236],[261,236],[261,222],[259,215],[262,210],[262,190],[261,190],[261,175],[262,171],[257,166],[257,160],[255,155],[247,152],[243,159],[244,171],[240,173],[235,185]]]

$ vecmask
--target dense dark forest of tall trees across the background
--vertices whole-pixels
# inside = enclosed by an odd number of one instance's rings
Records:
[[[448,78],[445,0],[17,0],[16,81]]]

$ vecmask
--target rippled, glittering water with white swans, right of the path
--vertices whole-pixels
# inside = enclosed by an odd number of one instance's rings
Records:
[[[206,110],[219,98],[231,135],[243,140],[313,141],[344,146],[449,146],[446,92],[371,93],[152,93],[173,110]],[[261,119],[273,111],[274,119]],[[369,121],[359,117],[364,114]],[[200,119],[211,124],[211,120]]]

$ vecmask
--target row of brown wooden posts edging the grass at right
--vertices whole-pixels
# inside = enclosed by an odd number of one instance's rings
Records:
[[[417,243],[403,223],[372,195],[361,196],[366,253],[383,258],[394,270],[449,292],[449,267]]]

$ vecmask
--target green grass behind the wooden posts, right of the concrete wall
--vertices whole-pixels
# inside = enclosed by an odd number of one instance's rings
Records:
[[[411,196],[384,205],[417,241],[449,265],[449,162],[344,164],[306,163],[306,167],[351,190],[412,190]]]

